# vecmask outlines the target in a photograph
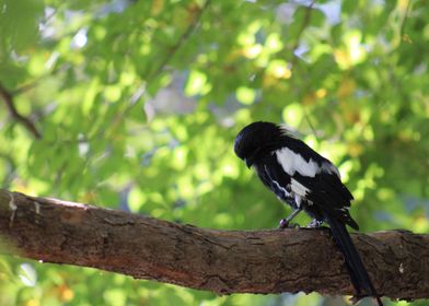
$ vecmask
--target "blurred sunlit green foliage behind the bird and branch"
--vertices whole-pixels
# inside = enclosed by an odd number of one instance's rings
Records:
[[[289,211],[232,151],[270,120],[339,167],[363,232],[429,233],[428,21],[417,0],[0,0],[1,188],[276,227]],[[217,297],[5,256],[0,291],[26,306],[346,301]]]

